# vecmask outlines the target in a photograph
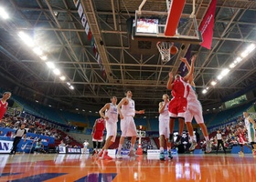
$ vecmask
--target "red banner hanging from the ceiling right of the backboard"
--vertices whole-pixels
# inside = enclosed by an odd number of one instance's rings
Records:
[[[199,25],[199,31],[203,37],[203,42],[201,45],[208,49],[211,48],[216,2],[217,0],[211,1],[210,5],[208,6],[208,12],[205,15],[201,25]]]

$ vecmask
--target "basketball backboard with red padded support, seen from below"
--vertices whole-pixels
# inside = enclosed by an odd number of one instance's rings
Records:
[[[156,39],[178,43],[200,44],[202,36],[198,31],[197,19],[194,15],[183,12],[186,0],[166,1],[166,12],[141,10],[146,0],[135,11],[132,38]],[[194,6],[193,6],[194,7]]]

